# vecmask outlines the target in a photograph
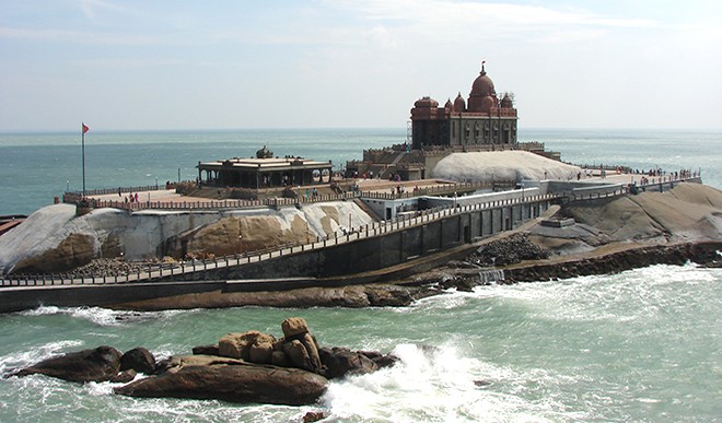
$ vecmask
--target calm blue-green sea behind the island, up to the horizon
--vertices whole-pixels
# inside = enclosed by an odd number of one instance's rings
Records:
[[[640,169],[701,169],[722,188],[722,133],[610,130],[520,130],[577,164]],[[364,149],[403,143],[405,129],[96,132],[85,136],[88,189],[149,186],[195,179],[198,161],[252,156],[267,144],[277,155],[330,160],[335,168]],[[30,214],[66,189],[82,190],[80,133],[0,134],[0,214]]]

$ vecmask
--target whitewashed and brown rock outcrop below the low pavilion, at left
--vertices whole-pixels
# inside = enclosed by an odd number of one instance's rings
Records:
[[[281,210],[95,209],[82,216],[73,205],[55,204],[0,237],[0,274],[67,272],[101,257],[130,261],[256,251],[340,233],[349,216],[354,226],[373,222],[352,201]]]

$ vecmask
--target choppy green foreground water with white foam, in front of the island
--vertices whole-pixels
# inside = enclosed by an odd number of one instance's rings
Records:
[[[450,292],[408,308],[0,316],[0,372],[112,344],[187,353],[230,331],[280,336],[302,316],[324,345],[394,351],[395,368],[330,385],[316,407],[130,399],[110,384],[0,380],[0,421],[712,422],[722,415],[722,271],[655,266],[615,275]],[[435,349],[420,349],[431,345]],[[426,352],[424,352],[426,351]]]

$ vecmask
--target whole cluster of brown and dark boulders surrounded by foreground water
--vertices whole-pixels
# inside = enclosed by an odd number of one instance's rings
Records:
[[[126,383],[144,373],[148,377],[115,388],[115,393],[301,406],[315,403],[329,379],[372,373],[398,360],[379,352],[319,348],[303,318],[288,318],[281,328],[283,338],[278,340],[253,330],[229,333],[218,344],[194,348],[194,355],[158,363],[143,348],[121,354],[102,345],[51,357],[4,377],[40,374],[75,383]]]

